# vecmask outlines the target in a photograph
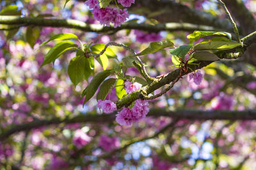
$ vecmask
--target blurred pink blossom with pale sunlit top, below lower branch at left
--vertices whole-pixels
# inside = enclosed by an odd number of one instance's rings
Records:
[[[73,136],[73,143],[77,148],[82,148],[84,145],[88,144],[91,138],[83,132],[81,129],[77,129]]]

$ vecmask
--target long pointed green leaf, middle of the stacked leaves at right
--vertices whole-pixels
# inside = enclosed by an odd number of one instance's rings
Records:
[[[194,50],[227,50],[240,46],[237,42],[207,42],[195,45]]]

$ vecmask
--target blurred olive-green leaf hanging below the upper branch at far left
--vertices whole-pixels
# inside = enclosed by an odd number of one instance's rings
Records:
[[[29,26],[26,31],[26,41],[29,43],[30,47],[33,49],[37,38],[40,36],[40,27]]]

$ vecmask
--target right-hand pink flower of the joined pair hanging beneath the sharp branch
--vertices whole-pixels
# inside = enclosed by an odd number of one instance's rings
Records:
[[[132,107],[132,114],[136,117],[137,120],[141,120],[146,117],[148,114],[148,102],[145,100],[136,100],[134,107]]]

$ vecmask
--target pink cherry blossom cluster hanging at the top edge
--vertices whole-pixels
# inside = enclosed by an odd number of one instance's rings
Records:
[[[124,7],[130,7],[134,0],[118,0],[118,3],[122,4]],[[121,26],[122,22],[129,17],[127,9],[111,8],[106,6],[106,8],[100,8],[98,0],[88,0],[85,2],[89,8],[92,8],[92,14],[96,20],[99,20],[100,24],[109,26],[110,23],[114,24],[114,27]]]

